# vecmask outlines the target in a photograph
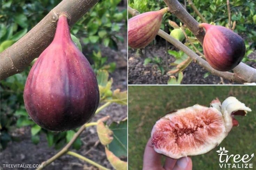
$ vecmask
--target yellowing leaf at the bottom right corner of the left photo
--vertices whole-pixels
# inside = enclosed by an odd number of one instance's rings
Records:
[[[116,170],[127,170],[127,162],[120,160],[111,151],[109,151],[107,147],[105,147],[105,152],[108,161]]]

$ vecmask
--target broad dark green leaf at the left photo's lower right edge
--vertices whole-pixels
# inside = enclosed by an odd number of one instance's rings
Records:
[[[109,129],[113,131],[113,141],[108,144],[108,149],[117,157],[127,156],[127,119],[111,123]]]

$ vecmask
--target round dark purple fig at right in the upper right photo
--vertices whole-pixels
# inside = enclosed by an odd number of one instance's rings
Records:
[[[207,62],[216,70],[230,71],[245,56],[245,43],[232,30],[207,23],[199,24],[205,28],[203,52]]]

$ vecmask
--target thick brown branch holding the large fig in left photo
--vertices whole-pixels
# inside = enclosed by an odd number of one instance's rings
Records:
[[[26,35],[0,53],[0,78],[20,73],[34,58],[39,57],[53,40],[56,21],[61,12],[67,14],[71,26],[97,2],[98,0],[61,1]]]

